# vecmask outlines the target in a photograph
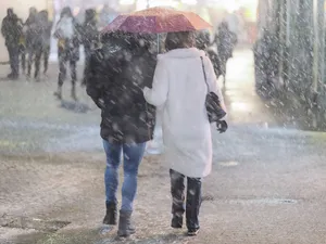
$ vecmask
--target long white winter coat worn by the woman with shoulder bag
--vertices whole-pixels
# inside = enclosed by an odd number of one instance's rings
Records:
[[[205,177],[212,169],[211,125],[204,105],[208,87],[200,56],[203,56],[210,90],[220,97],[224,106],[213,65],[205,53],[196,48],[159,55],[153,87],[143,89],[147,102],[163,113],[166,163],[172,169],[193,178]]]

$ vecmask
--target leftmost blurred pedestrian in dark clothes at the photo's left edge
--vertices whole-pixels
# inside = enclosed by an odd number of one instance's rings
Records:
[[[20,38],[22,36],[22,26],[13,9],[7,10],[7,16],[2,21],[1,34],[4,37],[5,46],[9,53],[11,73],[10,79],[20,77]]]

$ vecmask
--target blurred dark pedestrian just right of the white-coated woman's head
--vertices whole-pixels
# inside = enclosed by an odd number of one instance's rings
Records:
[[[237,35],[233,33],[226,22],[222,22],[215,34],[214,42],[217,46],[217,54],[220,57],[221,73],[225,85],[226,64],[233,57],[234,49],[237,44]]]

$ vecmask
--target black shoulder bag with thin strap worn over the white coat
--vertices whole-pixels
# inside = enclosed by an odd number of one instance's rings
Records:
[[[208,111],[209,120],[210,120],[210,123],[216,123],[226,115],[226,112],[221,107],[221,101],[220,101],[218,95],[215,92],[210,91],[206,73],[205,73],[205,67],[203,64],[203,59],[202,59],[202,56],[200,59],[201,59],[202,72],[204,75],[205,84],[208,86],[205,106],[206,106],[206,111]]]

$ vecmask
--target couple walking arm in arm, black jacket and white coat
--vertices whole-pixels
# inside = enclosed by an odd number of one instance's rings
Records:
[[[103,223],[117,223],[116,192],[123,152],[117,234],[135,233],[130,218],[138,167],[146,142],[153,136],[158,107],[163,117],[164,162],[170,164],[171,226],[183,228],[186,213],[188,234],[196,235],[200,229],[201,179],[212,168],[212,131],[205,108],[208,87],[224,106],[212,63],[203,51],[195,48],[192,31],[167,34],[167,52],[158,59],[150,52],[154,42],[150,37],[114,33],[103,36],[102,42],[90,59],[87,93],[102,116],[101,137],[106,154]]]

